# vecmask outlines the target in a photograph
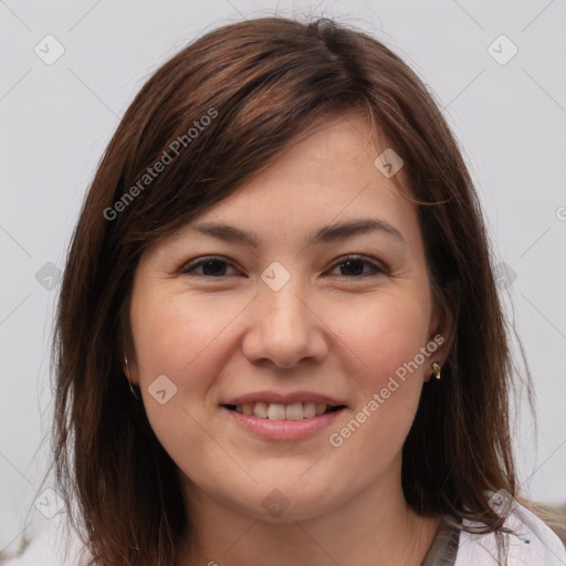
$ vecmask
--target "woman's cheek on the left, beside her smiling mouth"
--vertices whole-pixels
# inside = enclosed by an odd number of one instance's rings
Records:
[[[217,300],[212,305],[210,297],[165,295],[155,287],[134,295],[130,323],[147,418],[181,469],[195,468],[195,453],[221,460],[202,423],[209,409],[207,391],[227,363],[223,355],[230,354],[223,346],[226,329],[240,311],[233,301],[229,305]],[[165,381],[164,403],[150,392],[163,375],[174,384]]]

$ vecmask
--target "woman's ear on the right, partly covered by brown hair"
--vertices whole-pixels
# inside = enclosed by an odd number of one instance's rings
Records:
[[[429,358],[429,366],[431,366],[433,361],[442,366],[450,355],[458,329],[460,304],[460,280],[453,279],[449,281],[443,291],[438,287],[434,290],[433,314],[429,327],[429,343],[432,342],[437,344],[438,347]],[[430,380],[432,373],[432,367],[430,367],[430,371],[428,369],[424,371],[424,381]]]

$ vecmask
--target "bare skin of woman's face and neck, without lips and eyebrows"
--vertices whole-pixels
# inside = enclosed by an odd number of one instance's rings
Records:
[[[180,470],[196,533],[179,543],[182,565],[417,565],[432,542],[438,517],[418,516],[402,494],[401,448],[451,328],[438,326],[432,308],[417,208],[375,167],[387,146],[374,137],[358,114],[328,118],[140,260],[128,377]],[[364,218],[387,221],[405,243],[381,231],[306,241]],[[260,244],[192,230],[205,221],[253,231]],[[348,268],[346,254],[361,259]],[[227,263],[180,273],[209,255]],[[291,275],[279,291],[261,279],[274,261]],[[437,334],[443,345],[333,447],[331,433]],[[160,375],[177,387],[164,405],[148,391]],[[219,406],[268,389],[321,392],[347,409],[307,439],[274,441]],[[262,505],[274,489],[289,503],[279,516]]]

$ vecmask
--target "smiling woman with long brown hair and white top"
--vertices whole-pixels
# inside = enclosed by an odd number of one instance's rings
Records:
[[[470,176],[364,33],[258,19],[163,65],[85,200],[55,339],[90,564],[566,559],[515,499]]]

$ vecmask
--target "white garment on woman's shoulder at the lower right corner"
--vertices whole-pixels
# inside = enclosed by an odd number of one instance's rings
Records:
[[[463,521],[464,526],[480,526]],[[502,533],[504,556],[509,566],[564,566],[566,547],[556,533],[525,506],[515,502],[504,526],[514,534]],[[462,531],[454,566],[497,565],[497,537],[494,533],[474,535]]]

